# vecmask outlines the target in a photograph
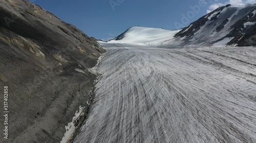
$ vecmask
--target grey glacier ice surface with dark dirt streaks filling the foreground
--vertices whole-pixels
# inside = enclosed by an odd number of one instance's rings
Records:
[[[256,142],[256,49],[231,48],[106,47],[74,142]]]

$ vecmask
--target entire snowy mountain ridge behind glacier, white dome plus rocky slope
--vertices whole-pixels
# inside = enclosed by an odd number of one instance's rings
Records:
[[[134,26],[108,41],[157,47],[255,46],[256,4],[220,7],[178,31]],[[104,44],[102,42],[101,44]],[[115,44],[117,46],[117,44]],[[125,45],[127,46],[127,45]]]

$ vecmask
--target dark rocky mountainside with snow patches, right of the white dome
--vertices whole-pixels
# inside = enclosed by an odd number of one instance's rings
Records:
[[[256,45],[256,4],[226,5],[199,18],[175,35],[183,45]]]

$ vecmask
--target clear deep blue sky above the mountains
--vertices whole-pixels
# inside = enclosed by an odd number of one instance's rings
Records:
[[[256,1],[256,0],[255,0]],[[96,39],[109,40],[131,26],[176,30],[226,4],[254,0],[31,0]]]

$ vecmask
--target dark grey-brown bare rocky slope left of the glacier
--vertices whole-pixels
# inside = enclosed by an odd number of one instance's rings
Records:
[[[0,142],[59,142],[79,105],[87,106],[95,79],[87,68],[103,49],[30,2],[0,6],[0,91],[8,85],[10,111],[9,139]]]

